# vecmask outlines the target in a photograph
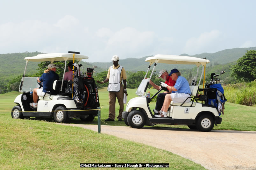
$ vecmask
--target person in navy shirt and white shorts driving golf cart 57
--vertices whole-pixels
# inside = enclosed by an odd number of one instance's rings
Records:
[[[59,68],[55,64],[51,63],[48,65],[48,68],[44,71],[41,77],[37,78],[38,82],[44,82],[43,89],[33,89],[33,102],[29,105],[33,108],[37,108],[38,96],[43,97],[47,91],[51,92],[51,95],[56,95],[57,92],[53,90],[53,82],[55,80],[60,80],[59,75],[56,72],[56,68]],[[49,92],[47,92],[49,93]],[[48,95],[47,95],[48,96]]]

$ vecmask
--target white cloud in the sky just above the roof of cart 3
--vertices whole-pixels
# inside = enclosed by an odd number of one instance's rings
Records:
[[[190,38],[186,41],[183,53],[190,55],[196,53],[211,52],[215,49],[213,46],[218,46],[220,41],[220,31],[212,30],[211,32],[204,32],[197,38]]]

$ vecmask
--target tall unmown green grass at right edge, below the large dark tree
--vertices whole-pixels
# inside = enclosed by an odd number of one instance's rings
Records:
[[[256,82],[226,85],[224,94],[231,103],[253,106],[256,104]]]

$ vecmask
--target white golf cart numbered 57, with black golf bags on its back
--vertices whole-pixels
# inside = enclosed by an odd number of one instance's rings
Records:
[[[72,85],[73,82],[64,80],[64,73],[67,66],[68,60],[78,60],[79,63],[82,59],[88,59],[89,57],[85,55],[78,55],[79,52],[72,52],[74,54],[68,53],[48,53],[48,54],[39,54],[34,57],[26,57],[26,66],[23,77],[20,82],[19,91],[23,94],[20,94],[14,100],[14,103],[17,105],[13,107],[11,111],[11,117],[14,119],[24,118],[24,117],[53,117],[55,122],[68,122],[70,118],[80,118],[83,121],[92,121],[95,116],[97,116],[97,107],[90,107],[93,105],[90,101],[86,101],[86,104],[81,105],[77,103],[76,100],[73,100]],[[34,88],[41,88],[43,85],[39,84],[36,77],[25,77],[26,68],[29,61],[41,62],[41,61],[65,61],[65,68],[63,73],[62,80],[55,80],[53,83],[53,89],[57,91],[57,95],[51,95],[46,92],[46,95],[39,97],[38,107],[32,108],[29,103],[33,102],[32,90]],[[82,64],[74,63],[74,68],[77,73],[77,76],[80,76],[79,67]],[[96,67],[96,66],[95,66]],[[95,68],[87,68],[87,71],[93,72]],[[99,98],[97,88],[93,87],[94,79],[92,78],[92,73],[88,73],[90,76],[83,76],[83,80],[87,82],[86,95],[87,100],[95,100],[99,105]],[[93,80],[93,81],[92,81]],[[84,84],[86,86],[86,84]],[[89,95],[92,94],[90,97]],[[93,96],[93,97],[92,97]],[[74,96],[75,97],[75,96]],[[95,102],[94,102],[95,106]]]

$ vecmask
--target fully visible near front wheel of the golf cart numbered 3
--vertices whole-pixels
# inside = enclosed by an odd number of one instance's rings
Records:
[[[139,110],[133,110],[127,116],[127,122],[132,128],[142,128],[146,124],[146,116]]]

